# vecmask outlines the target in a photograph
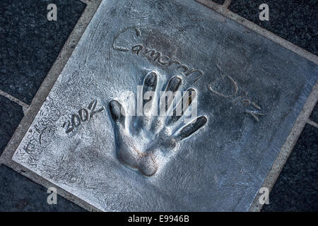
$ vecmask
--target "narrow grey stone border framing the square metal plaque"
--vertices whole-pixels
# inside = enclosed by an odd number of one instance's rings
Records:
[[[71,46],[78,43],[78,41],[81,38],[81,35],[83,35],[84,30],[86,29],[88,23],[90,22],[90,19],[93,17],[95,11],[97,10],[102,0],[81,0],[81,1],[87,5],[85,11],[81,15],[81,18],[78,19],[78,22],[76,23],[75,28],[73,29],[73,31],[71,32],[71,35],[69,36],[68,40],[64,44],[63,49],[61,49],[61,52],[59,53],[59,56],[57,57],[57,60],[54,62],[54,65],[50,69],[49,73],[47,74],[47,77],[43,81],[39,90],[37,90],[37,93],[35,97],[33,98],[33,101],[31,102],[30,106],[28,105],[25,106],[21,102],[23,105],[23,111],[25,113],[25,116],[23,117],[22,121],[18,125],[18,128],[16,129],[15,133],[11,137],[11,140],[8,142],[8,145],[6,146],[3,154],[0,157],[0,165],[4,164],[8,167],[11,167],[16,172],[23,174],[23,176],[28,177],[29,179],[33,180],[37,184],[41,184],[42,186],[45,186],[46,188],[49,188],[52,186],[57,187],[57,186],[47,181],[46,179],[43,179],[42,177],[35,174],[34,172],[31,172],[29,169],[26,169],[25,167],[17,164],[11,158],[13,153],[16,151],[16,148],[18,148],[20,141],[22,141],[25,133],[28,131],[28,128],[32,124],[32,121],[35,118],[35,115],[37,114],[43,102],[45,101],[47,95],[49,94],[49,91],[51,90],[55,81],[57,81],[57,78],[59,74],[61,73],[62,69],[64,68],[66,62],[68,61],[69,57],[71,57],[71,53],[73,52],[73,49],[71,48]],[[246,20],[245,18],[242,18],[241,16],[238,16],[237,14],[232,13],[232,11],[229,11],[228,6],[230,6],[230,0],[225,0],[223,6],[208,0],[194,0],[194,1],[197,1],[200,4],[203,4],[204,6],[211,8],[213,11],[216,11],[222,14],[223,16],[230,18],[231,20],[234,20],[237,23],[240,23],[246,28],[249,28],[250,30],[257,32],[259,35],[262,35],[266,37],[267,39],[273,42],[276,42],[277,44],[280,44],[286,49],[289,49],[290,51],[295,52],[301,57],[304,57],[305,59],[308,59],[314,62],[314,64],[318,64],[318,57],[315,56],[314,54],[311,54],[310,52],[305,51],[304,49],[296,46],[295,44],[292,44],[286,40],[283,40],[281,37],[274,35],[272,32],[269,32],[268,30],[265,30],[264,28],[259,27],[258,25],[250,22],[249,20]],[[0,95],[6,96],[6,93],[0,93]],[[10,96],[8,96],[8,98],[11,99]],[[283,165],[285,165],[285,161],[288,159],[288,156],[293,150],[293,146],[297,142],[298,137],[300,136],[300,133],[302,132],[302,129],[305,127],[305,124],[306,123],[312,124],[312,121],[310,121],[309,117],[310,117],[310,113],[312,112],[312,109],[314,109],[314,105],[316,104],[317,100],[318,100],[318,81],[314,85],[314,88],[312,89],[310,96],[307,98],[305,106],[300,112],[298,119],[295,121],[293,129],[290,131],[290,134],[288,138],[286,139],[283,145],[283,148],[281,148],[280,153],[278,153],[278,157],[273,163],[273,166],[271,167],[269,174],[267,174],[264,180],[264,183],[262,185],[263,187],[267,187],[269,190],[272,189],[273,184],[275,184],[276,179],[278,178],[278,175],[280,174],[281,169],[283,169]],[[17,102],[18,100],[13,100],[13,101]],[[313,125],[317,126],[317,124],[313,124]],[[82,208],[86,208],[86,210],[99,211],[98,208],[91,206],[89,203],[86,203],[85,201],[81,200],[81,198],[73,196],[73,194],[70,194],[68,191],[65,191],[64,189],[57,188],[57,193],[60,196],[68,199],[69,201],[76,203],[78,206],[81,206]],[[258,200],[259,200],[259,195],[257,195],[256,198],[254,198],[254,202],[252,203],[252,206],[249,208],[249,211],[261,210],[262,205],[259,204]]]

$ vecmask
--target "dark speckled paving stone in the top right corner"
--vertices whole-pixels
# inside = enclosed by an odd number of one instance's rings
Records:
[[[259,20],[261,4],[269,5],[269,21]],[[318,54],[317,0],[232,0],[229,9],[308,52]]]

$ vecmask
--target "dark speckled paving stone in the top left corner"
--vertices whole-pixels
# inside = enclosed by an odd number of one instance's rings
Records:
[[[57,21],[47,20],[48,4]],[[0,6],[0,89],[30,104],[86,4],[78,0],[12,0]]]

